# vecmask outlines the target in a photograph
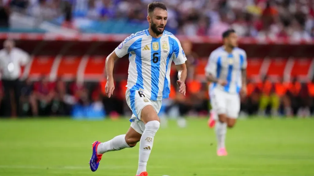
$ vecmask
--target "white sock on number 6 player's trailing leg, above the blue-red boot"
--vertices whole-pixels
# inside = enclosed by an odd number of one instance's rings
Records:
[[[129,148],[125,141],[125,134],[119,135],[111,139],[110,141],[100,143],[97,147],[97,153],[103,154],[110,151],[122,150],[123,148]]]

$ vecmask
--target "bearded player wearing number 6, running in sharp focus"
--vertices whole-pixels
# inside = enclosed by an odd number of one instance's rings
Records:
[[[185,95],[187,60],[179,40],[165,31],[167,8],[163,3],[148,5],[149,29],[127,37],[106,59],[106,94],[110,98],[115,87],[113,66],[115,60],[129,53],[129,70],[126,100],[133,112],[131,127],[126,134],[110,141],[93,143],[89,165],[96,171],[102,155],[106,152],[134,147],[139,142],[137,176],[147,176],[146,165],[153,149],[154,136],[160,127],[158,112],[161,101],[170,93],[170,67],[174,61],[179,72],[179,92]]]

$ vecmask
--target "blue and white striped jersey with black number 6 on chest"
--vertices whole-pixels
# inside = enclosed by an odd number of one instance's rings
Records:
[[[171,62],[180,65],[187,60],[173,34],[164,31],[160,38],[154,38],[148,29],[127,37],[115,53],[120,58],[130,53],[127,87],[144,92],[154,101],[169,97]]]

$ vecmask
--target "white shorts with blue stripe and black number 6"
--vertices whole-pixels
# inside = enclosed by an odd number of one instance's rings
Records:
[[[130,118],[131,127],[136,132],[143,134],[145,130],[145,124],[141,121],[141,112],[143,107],[151,105],[158,114],[161,108],[161,100],[150,100],[142,91],[130,90],[129,88],[127,88],[125,96],[127,99],[127,105],[133,112],[132,117]]]

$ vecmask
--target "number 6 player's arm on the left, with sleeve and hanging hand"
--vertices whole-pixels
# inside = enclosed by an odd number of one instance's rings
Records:
[[[111,54],[106,58],[106,74],[107,74],[107,82],[106,82],[106,95],[110,98],[115,90],[115,85],[113,81],[113,67],[115,61],[118,58],[122,58],[127,53],[133,51],[132,44],[136,41],[136,34],[132,34],[127,37],[121,44]]]

